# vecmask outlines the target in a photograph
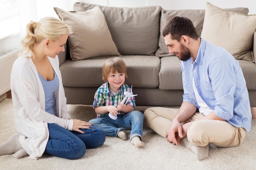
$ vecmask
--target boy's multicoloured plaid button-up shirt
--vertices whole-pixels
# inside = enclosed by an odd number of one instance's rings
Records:
[[[94,101],[93,101],[93,108],[97,106],[116,106],[118,105],[119,102],[122,102],[124,99],[124,92],[131,92],[131,88],[127,84],[123,84],[117,94],[114,96],[110,93],[110,90],[108,88],[108,82],[102,84],[98,90],[96,91],[94,95]],[[126,99],[127,101],[128,99]],[[129,101],[127,102],[126,105],[130,105],[132,107],[135,107],[135,97],[131,97]],[[119,111],[119,115],[123,115],[125,113]],[[97,117],[105,116],[108,115],[106,114],[97,114]]]

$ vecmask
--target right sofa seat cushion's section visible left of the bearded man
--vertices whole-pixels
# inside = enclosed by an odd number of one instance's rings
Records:
[[[181,61],[176,56],[162,57],[159,71],[159,89],[183,90]]]

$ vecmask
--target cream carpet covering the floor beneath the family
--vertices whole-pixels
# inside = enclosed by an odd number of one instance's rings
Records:
[[[89,121],[95,117],[91,106],[68,105],[74,118]],[[0,144],[15,132],[11,99],[0,102]],[[130,131],[128,131],[130,132]],[[135,148],[129,140],[106,137],[103,146],[88,149],[78,160],[44,154],[38,160],[0,156],[1,170],[256,170],[256,120],[245,141],[237,147],[218,148],[210,145],[209,157],[198,161],[183,146],[173,146],[165,138],[144,128],[145,148]]]

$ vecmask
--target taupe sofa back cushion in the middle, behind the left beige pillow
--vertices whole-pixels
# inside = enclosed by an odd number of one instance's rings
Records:
[[[99,6],[119,53],[122,55],[155,55],[158,49],[160,6],[119,8],[84,2],[74,3],[74,11]]]

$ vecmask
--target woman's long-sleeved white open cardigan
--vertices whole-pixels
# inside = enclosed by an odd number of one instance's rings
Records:
[[[66,97],[59,70],[58,56],[49,58],[59,79],[55,91],[56,116],[45,112],[45,93],[31,58],[22,55],[11,70],[11,95],[15,110],[15,128],[20,133],[20,144],[30,159],[38,159],[45,152],[49,139],[47,123],[72,130],[73,120],[67,113]]]

